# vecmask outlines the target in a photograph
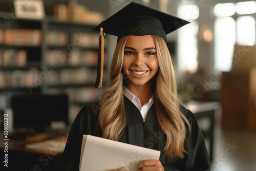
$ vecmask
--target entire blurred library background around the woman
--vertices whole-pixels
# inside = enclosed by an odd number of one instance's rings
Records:
[[[93,28],[131,2],[0,1],[1,167],[56,170],[77,113],[108,85],[117,37],[106,35],[103,88],[94,89]],[[211,170],[256,170],[256,1],[134,2],[190,22],[167,46]]]

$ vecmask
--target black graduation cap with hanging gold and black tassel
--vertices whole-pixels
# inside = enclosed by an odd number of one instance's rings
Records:
[[[188,24],[186,20],[138,3],[130,3],[101,22],[94,30],[100,31],[98,70],[95,88],[102,87],[104,60],[104,33],[118,36],[158,35],[167,43],[166,34]]]

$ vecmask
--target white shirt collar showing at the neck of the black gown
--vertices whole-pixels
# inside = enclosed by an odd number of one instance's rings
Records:
[[[139,98],[136,97],[132,92],[130,92],[126,87],[123,88],[123,94],[129,100],[131,100],[134,103],[134,105],[138,108],[138,110],[142,115],[143,121],[145,122],[147,112],[148,110],[150,110],[150,107],[153,104],[153,98],[151,98],[150,100],[148,100],[148,102],[146,102],[143,106],[141,106]]]

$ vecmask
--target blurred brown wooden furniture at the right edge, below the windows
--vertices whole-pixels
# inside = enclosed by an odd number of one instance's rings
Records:
[[[223,72],[221,89],[222,125],[256,131],[255,99],[256,67],[248,72]]]

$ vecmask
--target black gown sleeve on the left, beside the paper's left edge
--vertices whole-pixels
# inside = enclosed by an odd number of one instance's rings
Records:
[[[96,115],[91,106],[83,107],[77,114],[69,132],[59,170],[79,170],[82,137],[95,133],[95,127],[97,127],[95,118]],[[98,136],[97,133],[95,135]]]

